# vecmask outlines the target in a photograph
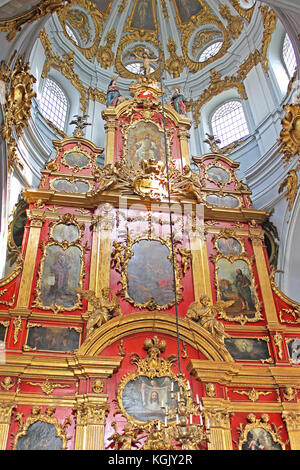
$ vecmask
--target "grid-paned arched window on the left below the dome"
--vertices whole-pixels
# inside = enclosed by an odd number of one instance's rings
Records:
[[[40,108],[46,119],[59,129],[64,129],[68,111],[67,98],[60,86],[50,78],[45,82]]]

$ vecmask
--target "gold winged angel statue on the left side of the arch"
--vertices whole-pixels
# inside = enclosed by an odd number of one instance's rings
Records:
[[[76,290],[94,307],[94,310],[87,321],[87,336],[113,318],[114,314],[115,316],[122,315],[120,301],[115,294],[112,294],[109,287],[104,287],[102,289],[101,297],[96,297],[95,292],[91,290],[78,288]]]

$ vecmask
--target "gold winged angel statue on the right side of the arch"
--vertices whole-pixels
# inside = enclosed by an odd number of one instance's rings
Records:
[[[186,317],[199,323],[209,333],[211,333],[219,342],[224,343],[224,338],[229,338],[225,333],[224,325],[219,322],[215,316],[224,312],[224,310],[234,303],[234,300],[220,300],[212,305],[211,300],[206,294],[201,295],[200,301],[192,302],[188,308]]]

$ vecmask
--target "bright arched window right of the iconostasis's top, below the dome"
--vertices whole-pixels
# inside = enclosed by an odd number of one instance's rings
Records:
[[[243,106],[240,101],[228,101],[216,109],[211,118],[213,135],[225,147],[249,134]]]

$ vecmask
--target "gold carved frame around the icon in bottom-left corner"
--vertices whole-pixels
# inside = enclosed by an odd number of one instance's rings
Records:
[[[71,424],[71,419],[68,416],[62,425],[58,424],[57,418],[54,416],[55,411],[55,408],[48,407],[43,413],[41,407],[34,406],[31,410],[31,414],[25,420],[23,419],[23,413],[16,413],[15,420],[19,424],[19,429],[14,438],[13,450],[17,450],[18,440],[21,437],[26,436],[29,427],[37,421],[49,423],[55,427],[56,437],[60,438],[62,441],[61,450],[65,450],[67,448],[68,440],[72,438],[72,436],[66,435],[66,428]]]

